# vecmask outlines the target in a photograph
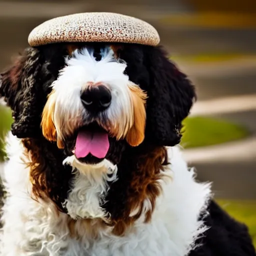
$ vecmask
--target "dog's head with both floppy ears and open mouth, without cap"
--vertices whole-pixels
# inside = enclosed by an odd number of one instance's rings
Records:
[[[51,44],[28,48],[1,74],[12,133],[41,134],[81,162],[120,159],[120,148],[172,146],[195,98],[159,47]]]

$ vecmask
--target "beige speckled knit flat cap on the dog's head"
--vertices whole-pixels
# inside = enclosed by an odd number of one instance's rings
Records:
[[[56,42],[126,42],[157,45],[156,29],[147,22],[111,12],[85,12],[56,17],[35,27],[30,46]]]

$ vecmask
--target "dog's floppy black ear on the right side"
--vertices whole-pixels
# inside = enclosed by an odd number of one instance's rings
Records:
[[[145,48],[149,73],[146,136],[159,145],[173,146],[181,138],[181,121],[195,100],[194,86],[159,47]]]

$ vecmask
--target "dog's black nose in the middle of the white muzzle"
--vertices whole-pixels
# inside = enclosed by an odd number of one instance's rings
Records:
[[[111,103],[111,92],[104,85],[89,86],[81,93],[81,101],[90,112],[105,110]]]

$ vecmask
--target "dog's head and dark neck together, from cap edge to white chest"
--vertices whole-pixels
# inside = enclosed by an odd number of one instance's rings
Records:
[[[164,146],[179,143],[181,121],[195,98],[193,85],[161,48],[29,47],[0,81],[0,96],[13,113],[12,133],[22,138],[29,161],[33,198],[50,199],[75,219],[110,216],[116,234],[142,212],[150,220],[167,164]],[[87,176],[75,183],[79,175]],[[79,194],[88,187],[96,195],[86,209]]]

